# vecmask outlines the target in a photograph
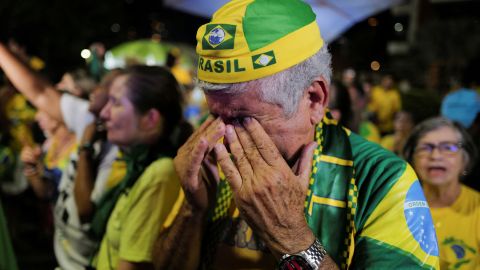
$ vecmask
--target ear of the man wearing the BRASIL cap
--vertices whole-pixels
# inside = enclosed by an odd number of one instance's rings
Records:
[[[328,89],[329,85],[323,76],[315,78],[307,89],[310,122],[313,125],[322,121],[325,115],[325,108],[328,105]]]

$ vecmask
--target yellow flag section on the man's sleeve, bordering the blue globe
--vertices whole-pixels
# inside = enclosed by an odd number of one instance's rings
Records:
[[[399,201],[405,202],[406,191],[409,190],[409,187],[415,181],[418,181],[417,176],[413,169],[408,166],[397,183],[385,196],[389,199],[382,200],[367,219],[364,230],[360,235],[401,249],[406,254],[415,256],[424,264],[432,265],[435,269],[439,269],[438,257],[427,254],[417,241],[411,240],[410,229],[407,227],[408,222],[404,215],[405,206],[402,203],[398,203]],[[375,222],[377,219],[382,219],[382,222]],[[385,230],[385,224],[396,228],[396,232],[405,233],[391,233],[390,230]]]

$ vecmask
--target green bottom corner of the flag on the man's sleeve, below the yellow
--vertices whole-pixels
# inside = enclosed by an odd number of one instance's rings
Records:
[[[357,240],[350,269],[373,269],[372,265],[375,265],[375,269],[431,269],[431,266],[408,255],[395,246],[361,237]]]

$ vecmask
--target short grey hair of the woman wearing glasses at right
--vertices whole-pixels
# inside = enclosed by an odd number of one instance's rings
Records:
[[[460,139],[462,145],[462,153],[465,161],[465,171],[470,172],[475,160],[477,159],[477,147],[473,143],[472,138],[468,134],[467,130],[457,122],[453,122],[444,117],[434,117],[427,119],[418,124],[410,134],[403,147],[402,155],[410,163],[413,161],[413,155],[418,142],[430,131],[437,130],[442,127],[449,127],[453,129]]]

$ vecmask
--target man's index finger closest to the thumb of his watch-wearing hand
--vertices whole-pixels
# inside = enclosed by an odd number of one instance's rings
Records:
[[[250,137],[258,149],[258,152],[267,164],[273,166],[279,160],[283,161],[277,146],[255,118],[245,117],[243,119],[243,126],[248,133],[250,133]]]

